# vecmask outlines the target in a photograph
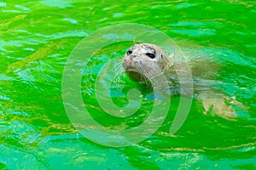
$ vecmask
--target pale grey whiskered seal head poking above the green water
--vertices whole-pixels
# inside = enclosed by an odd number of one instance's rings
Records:
[[[150,43],[135,44],[129,48],[122,62],[131,80],[144,82],[160,75],[173,63],[158,46]]]

